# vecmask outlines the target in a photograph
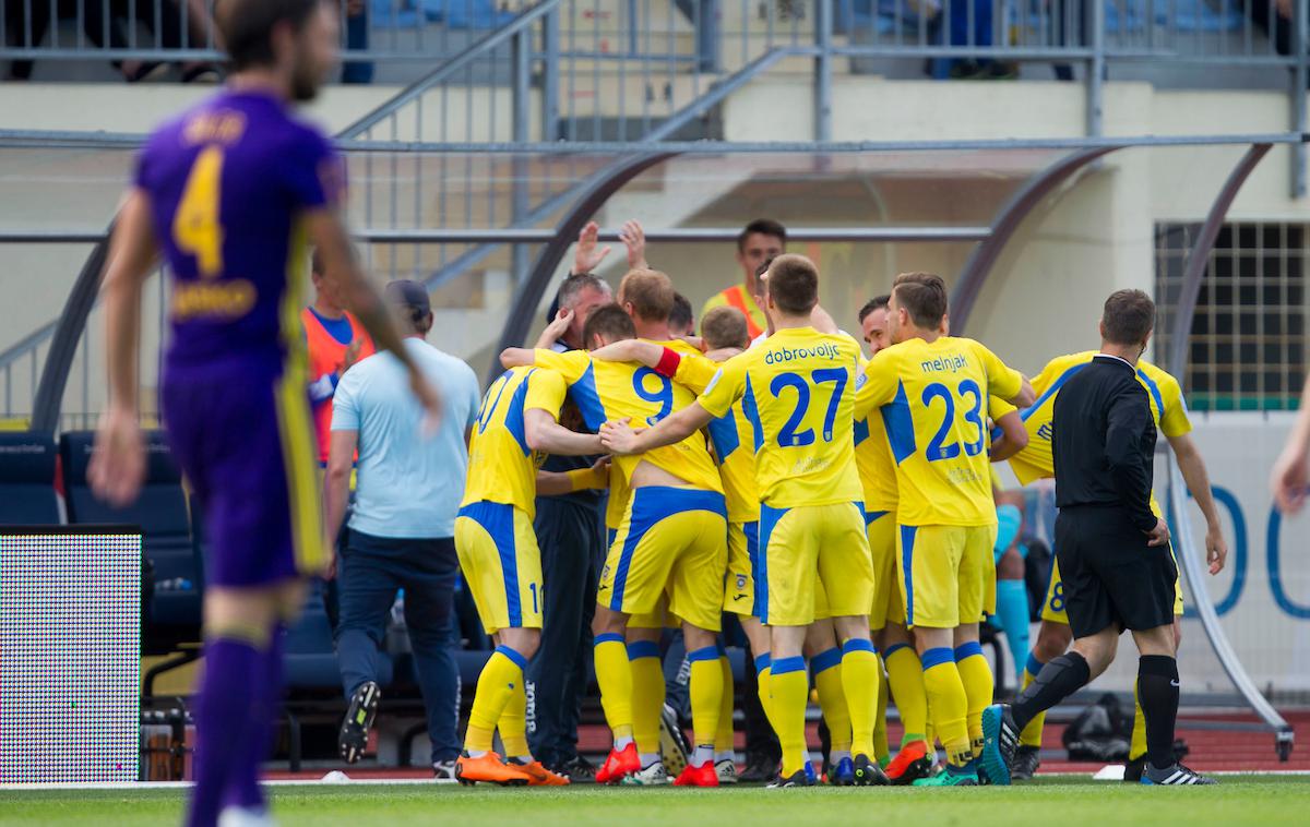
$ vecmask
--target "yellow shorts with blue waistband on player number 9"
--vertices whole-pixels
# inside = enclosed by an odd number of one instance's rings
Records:
[[[723,495],[698,488],[634,488],[618,526],[596,602],[626,615],[668,610],[692,625],[719,631],[727,567]]]

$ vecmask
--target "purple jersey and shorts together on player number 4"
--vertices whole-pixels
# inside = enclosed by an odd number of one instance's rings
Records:
[[[342,190],[328,140],[261,92],[223,92],[159,128],[136,187],[172,275],[161,412],[204,510],[217,586],[320,569],[299,311],[304,217]]]

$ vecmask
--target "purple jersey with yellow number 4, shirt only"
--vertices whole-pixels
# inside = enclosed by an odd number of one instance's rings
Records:
[[[151,136],[135,183],[173,276],[170,366],[299,347],[300,219],[343,181],[328,140],[258,92],[219,93]]]

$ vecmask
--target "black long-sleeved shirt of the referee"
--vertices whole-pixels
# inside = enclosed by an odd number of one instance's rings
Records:
[[[1060,389],[1051,427],[1057,506],[1117,505],[1142,531],[1155,527],[1155,421],[1133,365],[1094,356]]]

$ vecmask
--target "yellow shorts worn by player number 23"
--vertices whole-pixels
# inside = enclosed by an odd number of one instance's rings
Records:
[[[996,523],[900,526],[900,591],[907,625],[952,629],[996,611]]]

